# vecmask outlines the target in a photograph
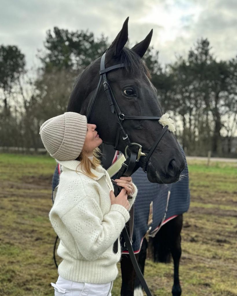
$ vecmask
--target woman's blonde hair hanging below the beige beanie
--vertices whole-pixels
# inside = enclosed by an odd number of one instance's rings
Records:
[[[82,149],[80,155],[76,158],[76,160],[79,160],[81,162],[77,166],[77,168],[81,166],[81,170],[85,175],[87,175],[88,177],[96,178],[97,176],[91,172],[91,168],[95,170],[95,168],[100,165],[101,163],[99,159],[100,155],[101,155],[100,148],[97,147],[93,151],[93,160],[90,160],[86,155],[86,151]]]

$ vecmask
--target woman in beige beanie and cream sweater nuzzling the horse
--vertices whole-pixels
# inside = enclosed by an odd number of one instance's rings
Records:
[[[102,139],[86,116],[66,112],[40,128],[49,154],[62,166],[50,222],[60,238],[57,254],[63,258],[55,296],[110,296],[118,274],[119,237],[137,188],[131,177],[115,180],[123,189],[117,197],[108,173],[100,165],[97,148]],[[127,200],[127,196],[132,199]],[[118,240],[119,242],[119,240]]]

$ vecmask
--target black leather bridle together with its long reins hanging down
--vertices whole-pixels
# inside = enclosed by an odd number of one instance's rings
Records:
[[[123,126],[122,126],[122,123],[123,123],[124,120],[129,120],[129,119],[130,120],[141,120],[141,119],[142,120],[160,120],[161,117],[158,117],[158,116],[130,116],[130,115],[124,115],[124,113],[121,112],[121,110],[119,108],[119,105],[117,104],[117,101],[116,101],[116,99],[115,99],[115,97],[113,95],[112,89],[111,89],[111,87],[110,87],[110,85],[108,83],[106,73],[108,73],[108,72],[110,72],[112,70],[115,70],[115,69],[122,68],[122,67],[124,67],[124,64],[123,63],[122,64],[117,64],[117,65],[105,68],[105,55],[106,55],[106,52],[101,57],[101,61],[100,61],[100,80],[99,80],[99,83],[97,85],[94,97],[93,97],[93,99],[91,101],[89,110],[87,112],[87,121],[89,121],[89,118],[90,118],[92,109],[94,107],[98,91],[100,89],[101,81],[103,80],[103,87],[104,87],[104,91],[105,91],[106,97],[108,99],[110,108],[111,108],[111,112],[116,113],[117,123],[119,124],[119,127],[117,129],[116,141],[115,141],[114,147],[115,147],[116,150],[119,150],[118,149],[118,144],[119,144],[120,136],[122,136],[123,141],[126,144],[126,148],[125,148],[126,160],[122,164],[116,178],[119,179],[121,176],[131,176],[132,173],[138,168],[137,163],[139,162],[140,157],[145,157],[145,160],[142,161],[142,169],[146,173],[147,172],[146,168],[147,168],[147,164],[148,164],[148,161],[150,159],[150,156],[151,156],[152,152],[154,151],[154,149],[156,148],[159,141],[161,140],[162,136],[164,136],[164,134],[167,131],[167,129],[169,128],[169,126],[164,126],[163,130],[161,131],[161,133],[157,137],[155,143],[153,144],[153,146],[151,147],[151,149],[150,149],[150,151],[148,152],[147,155],[146,155],[145,152],[142,151],[142,145],[140,145],[138,143],[132,143],[130,141],[129,136],[127,135],[127,133],[125,132],[125,130],[124,130]],[[133,152],[131,150],[132,146],[138,146],[139,147],[139,150],[138,150],[137,153],[135,153],[135,152]],[[130,154],[129,155],[127,155],[127,149],[128,148],[130,148]],[[120,190],[119,186],[115,186],[115,188],[114,188],[115,196],[117,196],[119,194],[119,190]],[[133,224],[133,219],[134,219],[134,210],[133,210],[133,207],[132,207],[132,209],[130,210],[130,220],[129,220],[129,222],[126,223],[126,226],[124,227],[122,233],[123,233],[123,236],[124,236],[124,239],[125,239],[125,242],[126,242],[126,246],[128,248],[128,251],[129,251],[129,255],[130,255],[132,264],[133,264],[134,269],[136,271],[136,274],[137,274],[138,278],[140,279],[140,282],[141,282],[142,287],[144,288],[146,294],[148,296],[151,296],[151,292],[150,292],[150,290],[149,290],[149,288],[148,288],[148,286],[147,286],[147,284],[145,282],[144,277],[142,276],[142,273],[141,273],[140,268],[139,268],[139,266],[137,264],[137,260],[135,258],[135,255],[134,255],[134,252],[133,252],[133,249],[132,249],[132,244],[131,244],[132,231],[130,231],[130,237],[129,237],[129,234],[128,234],[128,231],[127,231],[127,226],[128,226],[128,229],[131,230],[131,225]],[[129,224],[130,224],[130,227],[129,227]],[[118,252],[118,239],[116,240],[115,244],[113,245],[113,251],[115,253]]]

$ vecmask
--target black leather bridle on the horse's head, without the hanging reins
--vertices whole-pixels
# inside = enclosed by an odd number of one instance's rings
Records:
[[[116,101],[116,99],[115,99],[115,97],[113,95],[112,89],[111,89],[111,87],[110,87],[110,85],[108,83],[106,73],[108,73],[108,72],[110,72],[112,70],[115,70],[115,69],[123,68],[124,64],[123,63],[122,64],[117,64],[117,65],[105,68],[105,55],[106,55],[106,52],[101,57],[101,61],[100,61],[100,80],[99,80],[99,83],[97,85],[94,97],[93,97],[93,99],[91,101],[89,110],[87,112],[87,120],[89,121],[89,118],[90,118],[92,109],[94,107],[98,91],[100,89],[101,81],[103,80],[103,87],[104,87],[104,91],[105,91],[106,97],[108,99],[110,108],[111,108],[111,112],[116,113],[116,116],[117,116],[117,119],[118,119],[117,123],[119,124],[119,128],[117,129],[116,141],[115,141],[114,147],[115,147],[116,150],[119,150],[118,149],[118,144],[119,144],[120,135],[122,136],[123,141],[126,143],[125,155],[126,155],[126,158],[128,160],[128,161],[126,161],[126,163],[127,163],[126,176],[130,176],[128,173],[133,172],[134,167],[135,167],[136,163],[140,160],[141,156],[145,157],[144,161],[142,161],[142,169],[146,173],[147,172],[146,171],[147,164],[148,164],[148,161],[150,159],[150,156],[152,155],[154,149],[158,145],[158,143],[161,140],[162,136],[164,136],[165,132],[168,129],[168,126],[164,126],[163,130],[158,135],[155,143],[151,147],[148,154],[146,154],[146,153],[144,153],[142,151],[142,145],[140,145],[138,143],[132,143],[130,141],[129,136],[127,135],[127,133],[125,132],[125,130],[124,130],[123,126],[122,126],[122,123],[123,123],[124,120],[129,120],[129,119],[130,120],[141,120],[141,119],[142,120],[159,120],[161,117],[158,117],[158,116],[130,116],[130,115],[124,115],[124,113],[121,112],[121,110],[119,108],[119,105],[117,104],[117,101]],[[137,153],[135,153],[135,152],[132,152],[132,150],[130,149],[131,153],[128,156],[127,155],[127,149],[131,148],[132,146],[138,146],[139,150],[138,150]]]

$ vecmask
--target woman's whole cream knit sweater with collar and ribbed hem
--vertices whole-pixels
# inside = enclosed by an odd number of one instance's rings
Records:
[[[58,161],[62,173],[50,222],[60,238],[57,254],[63,258],[58,273],[77,282],[103,284],[113,281],[120,260],[120,242],[117,254],[113,243],[119,237],[129,212],[125,207],[111,205],[110,177],[102,166],[91,170],[97,178],[82,173],[77,160]],[[134,186],[132,206],[137,195]]]

